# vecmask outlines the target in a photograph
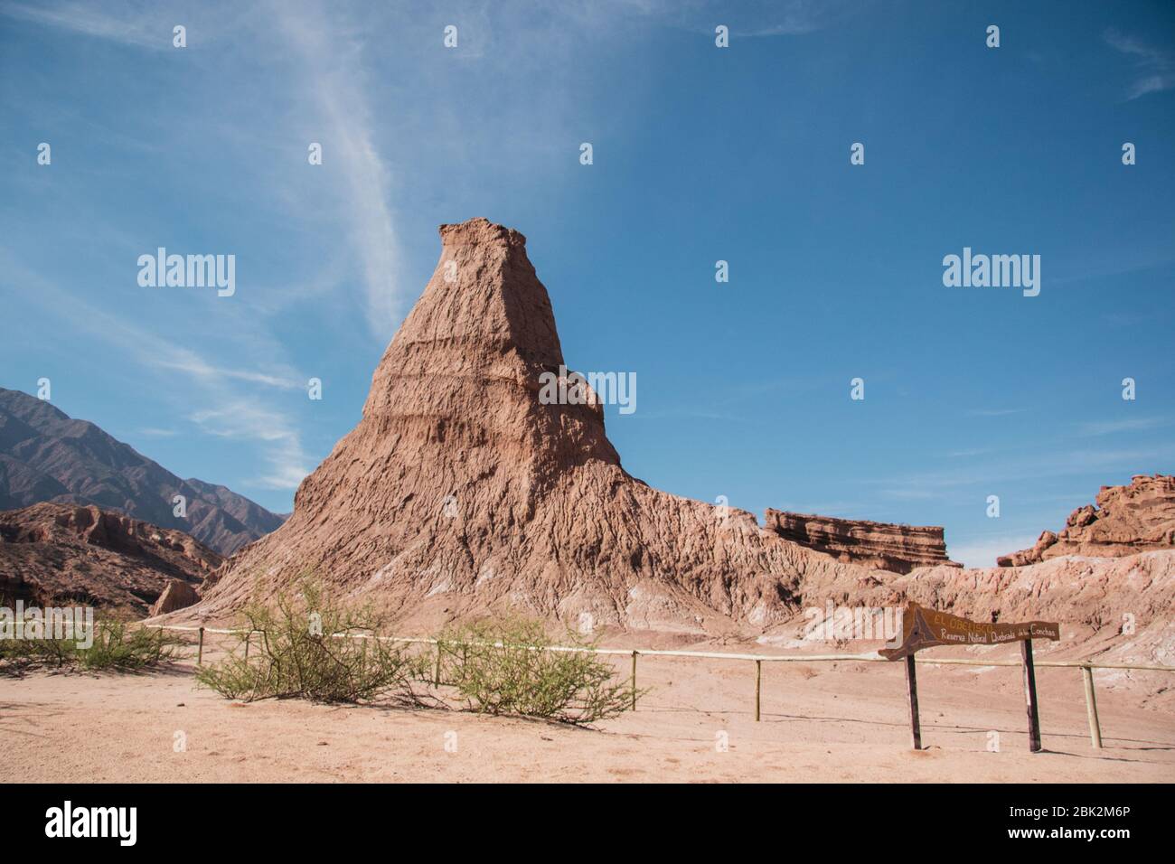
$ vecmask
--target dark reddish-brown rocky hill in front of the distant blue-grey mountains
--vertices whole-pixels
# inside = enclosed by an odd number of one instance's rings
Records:
[[[142,614],[172,580],[200,583],[222,562],[196,540],[96,507],[0,513],[0,597]]]

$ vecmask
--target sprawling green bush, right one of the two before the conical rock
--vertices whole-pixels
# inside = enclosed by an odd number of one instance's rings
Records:
[[[566,645],[593,648],[568,632]],[[645,691],[612,683],[615,669],[588,651],[551,651],[543,624],[524,618],[451,628],[438,638],[450,658],[446,683],[474,710],[516,714],[560,723],[595,723],[632,706]]]

